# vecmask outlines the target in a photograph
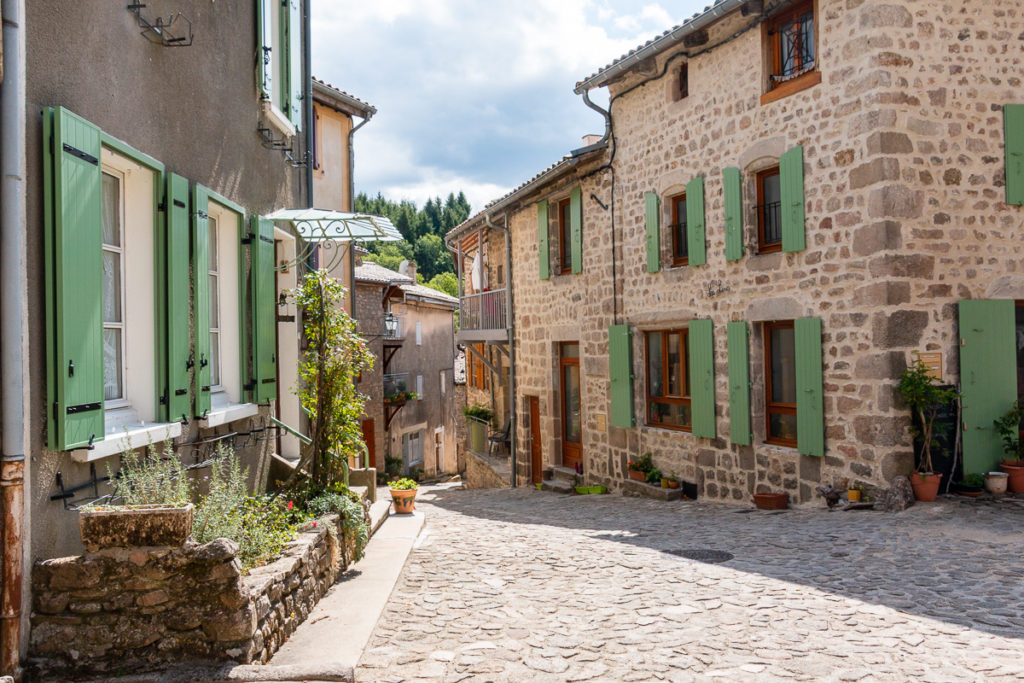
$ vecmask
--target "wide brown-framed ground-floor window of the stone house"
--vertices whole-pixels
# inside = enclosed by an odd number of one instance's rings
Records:
[[[648,332],[647,424],[690,431],[690,369],[687,330]]]

